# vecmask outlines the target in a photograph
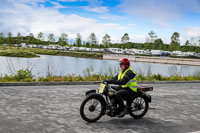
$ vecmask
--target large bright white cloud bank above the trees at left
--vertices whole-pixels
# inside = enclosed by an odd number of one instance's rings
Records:
[[[102,38],[105,33],[116,36],[128,28],[116,23],[99,23],[95,19],[76,14],[65,15],[55,8],[35,7],[21,2],[13,2],[12,6],[7,6],[2,10],[0,8],[0,25],[0,32],[11,31],[15,35],[17,32],[23,35],[30,32],[37,35],[39,32],[43,32],[60,36],[64,32],[73,38],[77,33],[81,33],[83,38],[87,38],[92,32],[98,38]]]

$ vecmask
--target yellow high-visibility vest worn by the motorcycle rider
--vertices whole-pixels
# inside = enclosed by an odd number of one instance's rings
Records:
[[[118,80],[123,79],[124,75],[128,70],[131,70],[135,74],[135,77],[133,79],[130,79],[125,85],[122,85],[122,88],[129,87],[132,91],[137,92],[136,73],[133,71],[131,67],[127,68],[124,72],[120,70],[118,74]]]

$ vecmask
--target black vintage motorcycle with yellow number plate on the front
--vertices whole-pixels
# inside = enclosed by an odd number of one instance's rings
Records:
[[[103,115],[110,117],[119,115],[119,106],[114,102],[116,91],[115,86],[110,86],[106,82],[101,83],[97,90],[87,91],[86,98],[80,106],[80,115],[83,120],[96,122]],[[153,91],[153,87],[138,85],[138,92],[126,99],[126,114],[139,119],[147,113],[151,102],[148,91]]]

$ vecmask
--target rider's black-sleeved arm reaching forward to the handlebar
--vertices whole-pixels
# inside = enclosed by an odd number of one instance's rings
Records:
[[[111,79],[110,84],[125,85],[130,79],[133,79],[136,75],[131,71],[127,71],[124,77],[120,80]]]

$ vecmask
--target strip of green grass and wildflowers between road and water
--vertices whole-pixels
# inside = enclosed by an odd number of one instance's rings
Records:
[[[113,75],[110,74],[86,74],[80,75],[66,75],[66,76],[55,76],[49,75],[46,77],[34,78],[30,70],[19,70],[14,75],[0,76],[0,82],[75,82],[75,81],[102,81],[104,79],[110,79]],[[173,76],[162,76],[160,74],[144,76],[143,74],[137,75],[137,81],[194,81],[200,80],[200,73],[195,73],[192,76],[181,77],[178,75]]]

